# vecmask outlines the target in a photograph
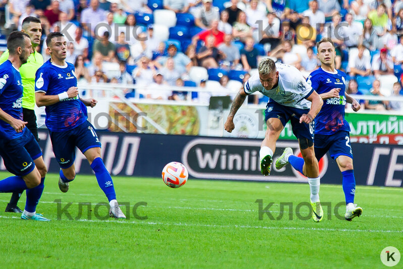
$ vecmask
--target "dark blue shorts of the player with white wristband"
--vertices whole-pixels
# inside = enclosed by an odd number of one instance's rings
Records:
[[[88,120],[68,131],[49,130],[49,135],[55,157],[63,169],[74,164],[76,147],[84,153],[88,149],[101,146],[94,127]]]

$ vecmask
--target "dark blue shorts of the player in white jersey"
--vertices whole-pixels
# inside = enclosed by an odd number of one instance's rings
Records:
[[[288,121],[291,121],[292,132],[297,139],[308,139],[309,141],[314,141],[314,132],[315,132],[315,120],[310,124],[305,122],[299,123],[299,118],[303,114],[307,114],[309,109],[300,109],[294,107],[287,107],[280,105],[270,99],[269,103],[266,106],[265,111],[265,120],[269,118],[277,118],[285,127],[285,124]]]

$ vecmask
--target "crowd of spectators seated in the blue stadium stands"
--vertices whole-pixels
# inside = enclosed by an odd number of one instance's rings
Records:
[[[228,89],[228,81],[241,83],[264,57],[308,76],[319,68],[315,45],[323,37],[335,43],[336,68],[346,72],[350,93],[399,96],[403,0],[392,1],[8,0],[3,5],[10,30],[20,29],[27,16],[41,20],[38,50],[45,60],[46,34],[62,31],[67,61],[76,66],[79,80],[136,83],[144,98],[183,100],[190,95],[148,94],[146,87],[204,87],[206,80],[216,80]],[[208,77],[192,76],[195,67],[205,68]],[[363,105],[400,109],[393,102]]]

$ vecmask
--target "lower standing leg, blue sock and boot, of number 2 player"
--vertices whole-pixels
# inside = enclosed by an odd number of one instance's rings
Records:
[[[342,171],[343,175],[343,192],[345,196],[346,210],[344,218],[351,221],[355,217],[361,216],[363,209],[357,204],[354,204],[354,197],[356,194],[356,179],[354,177],[354,170]]]

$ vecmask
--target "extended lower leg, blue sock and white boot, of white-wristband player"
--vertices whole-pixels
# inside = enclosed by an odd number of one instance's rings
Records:
[[[123,214],[119,207],[118,201],[116,200],[116,193],[113,186],[112,177],[105,167],[102,158],[95,158],[91,163],[91,168],[95,172],[95,177],[99,187],[104,191],[108,198],[109,205],[111,206],[109,210],[110,216],[115,218],[126,218],[125,214]]]

